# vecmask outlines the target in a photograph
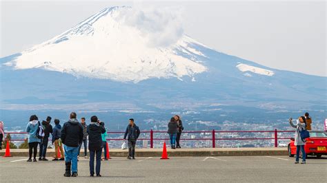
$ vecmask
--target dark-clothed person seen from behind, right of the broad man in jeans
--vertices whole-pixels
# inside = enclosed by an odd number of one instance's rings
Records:
[[[101,153],[102,153],[102,138],[101,134],[106,132],[104,125],[99,122],[97,116],[91,117],[91,123],[88,125],[88,150],[90,151],[90,177],[93,177],[95,173],[97,177],[101,177]],[[101,125],[100,125],[101,124]],[[95,166],[95,155],[96,155],[96,166]]]

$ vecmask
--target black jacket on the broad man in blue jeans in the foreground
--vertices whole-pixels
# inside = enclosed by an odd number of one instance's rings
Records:
[[[83,142],[83,127],[77,119],[70,119],[61,129],[61,142],[68,147],[79,147]]]

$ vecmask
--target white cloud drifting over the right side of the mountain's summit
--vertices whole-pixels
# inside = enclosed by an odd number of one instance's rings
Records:
[[[136,6],[126,8],[117,19],[139,29],[148,40],[148,46],[167,47],[184,34],[181,12],[182,9],[177,7]]]

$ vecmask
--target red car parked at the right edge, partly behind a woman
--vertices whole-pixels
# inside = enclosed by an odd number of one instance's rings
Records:
[[[306,139],[304,151],[306,155],[327,155],[327,132],[325,131],[309,131],[310,138]],[[301,152],[301,151],[300,151]],[[288,144],[288,156],[293,157],[297,154],[297,147],[294,145],[294,138],[290,138]]]

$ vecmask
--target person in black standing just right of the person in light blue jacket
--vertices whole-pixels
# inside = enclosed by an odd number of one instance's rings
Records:
[[[48,149],[48,142],[49,142],[49,136],[50,133],[52,133],[52,125],[50,125],[51,122],[51,117],[48,116],[46,118],[46,120],[42,121],[42,126],[43,126],[43,130],[44,130],[44,136],[42,139],[42,151],[41,151],[41,147],[40,147],[40,157],[39,160],[41,161],[48,161],[48,159],[46,159],[46,150]]]

